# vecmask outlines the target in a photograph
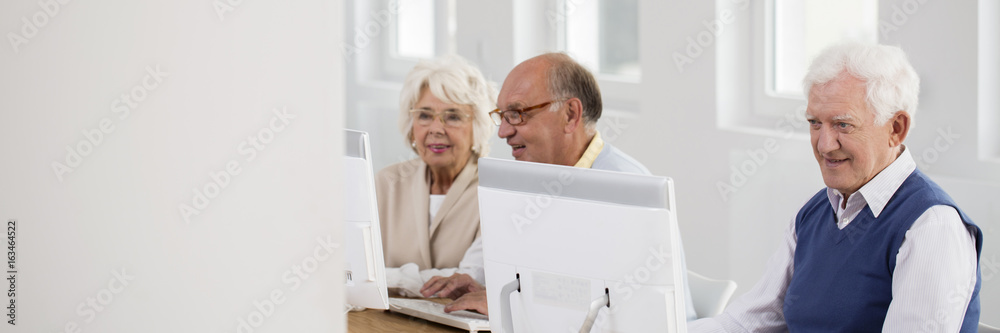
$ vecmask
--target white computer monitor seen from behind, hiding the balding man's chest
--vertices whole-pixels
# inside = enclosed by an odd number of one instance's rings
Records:
[[[665,177],[480,159],[492,331],[578,332],[593,307],[591,332],[685,332],[674,207]]]

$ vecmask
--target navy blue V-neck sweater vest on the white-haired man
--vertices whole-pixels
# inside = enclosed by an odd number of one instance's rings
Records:
[[[880,332],[892,302],[892,274],[903,236],[917,217],[935,205],[955,207],[966,227],[976,231],[976,288],[961,329],[975,332],[983,233],[920,170],[906,178],[878,218],[865,206],[843,230],[837,228],[826,189],[802,207],[795,217],[795,266],[784,300],[788,330]]]

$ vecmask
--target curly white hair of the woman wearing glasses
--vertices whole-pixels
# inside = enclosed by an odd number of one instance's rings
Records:
[[[399,131],[408,146],[413,143],[410,110],[420,101],[424,89],[442,102],[472,107],[472,150],[476,157],[486,156],[495,127],[489,112],[496,105],[496,84],[486,81],[476,66],[457,55],[421,60],[406,75],[399,94]]]

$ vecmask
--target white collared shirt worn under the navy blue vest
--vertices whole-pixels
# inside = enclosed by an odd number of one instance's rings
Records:
[[[843,229],[868,206],[878,217],[903,181],[916,169],[908,149],[847,199],[827,188],[830,205]],[[764,276],[714,318],[689,323],[690,332],[785,332],[782,307],[792,280],[795,218],[784,246],[767,262]],[[976,240],[951,206],[933,206],[910,226],[896,254],[892,302],[883,332],[958,332],[976,286]],[[835,311],[835,309],[831,309]]]

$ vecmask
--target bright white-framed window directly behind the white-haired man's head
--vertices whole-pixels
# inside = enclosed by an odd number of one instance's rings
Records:
[[[716,42],[718,124],[741,132],[806,136],[801,86],[812,58],[878,38],[877,0],[723,1],[716,18],[733,24]]]

